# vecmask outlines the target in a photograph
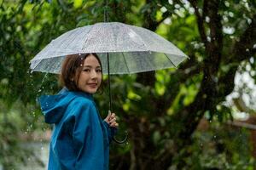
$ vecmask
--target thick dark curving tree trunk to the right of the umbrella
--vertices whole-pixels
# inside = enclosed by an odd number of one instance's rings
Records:
[[[189,1],[197,12],[195,14],[198,17],[198,25],[202,26],[201,16],[199,15],[196,3],[193,0]],[[195,97],[194,102],[187,107],[183,108],[183,111],[177,113],[176,119],[182,117],[184,128],[178,134],[180,138],[189,137],[197,127],[198,122],[204,115],[205,111],[210,111],[211,114],[216,110],[217,101],[215,98],[217,96],[217,77],[218,69],[223,48],[223,36],[222,36],[222,26],[221,17],[218,14],[218,4],[219,1],[208,2],[209,8],[208,14],[210,17],[210,31],[211,31],[211,42],[207,42],[206,54],[207,57],[204,59],[203,69],[203,79],[201,81],[201,88]],[[201,26],[200,26],[201,25]],[[201,34],[204,34],[201,31]],[[206,35],[202,35],[204,37]]]

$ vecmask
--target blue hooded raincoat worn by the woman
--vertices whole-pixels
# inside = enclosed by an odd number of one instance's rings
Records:
[[[102,121],[91,94],[68,91],[39,99],[45,122],[55,124],[49,170],[106,170],[116,128]]]

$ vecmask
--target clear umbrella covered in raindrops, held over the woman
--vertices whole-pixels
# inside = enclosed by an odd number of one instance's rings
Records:
[[[60,73],[69,54],[96,53],[103,74],[131,74],[177,67],[186,54],[153,31],[119,22],[102,22],[67,31],[49,42],[31,61],[32,71]],[[109,81],[109,78],[108,78]],[[109,84],[109,110],[111,91]]]

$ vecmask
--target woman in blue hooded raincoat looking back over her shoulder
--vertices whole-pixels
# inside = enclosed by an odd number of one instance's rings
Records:
[[[96,54],[67,56],[61,69],[64,88],[39,99],[45,122],[55,127],[49,144],[49,170],[108,169],[109,143],[119,124],[115,114],[102,121],[92,98],[102,90],[102,64]]]

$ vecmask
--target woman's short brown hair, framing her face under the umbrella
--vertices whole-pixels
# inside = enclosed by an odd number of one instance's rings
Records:
[[[66,87],[70,91],[80,91],[78,87],[79,76],[83,70],[84,59],[86,59],[89,55],[90,54],[71,54],[66,56],[66,59],[64,59],[62,63],[60,75],[60,82],[63,87]],[[96,57],[102,67],[102,62],[98,55],[95,53],[92,53],[91,55]],[[98,90],[102,94],[102,83]]]

